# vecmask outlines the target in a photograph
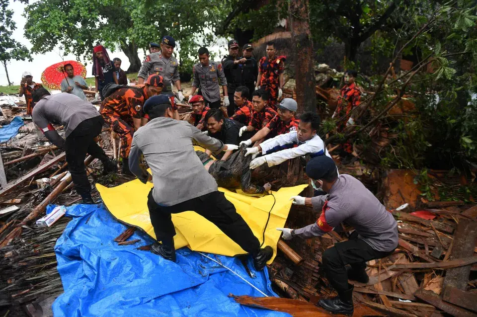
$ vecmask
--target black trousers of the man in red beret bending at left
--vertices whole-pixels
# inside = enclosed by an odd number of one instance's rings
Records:
[[[86,154],[106,162],[108,157],[94,138],[101,133],[104,120],[101,116],[86,119],[73,130],[65,140],[66,161],[76,191],[83,196],[91,192],[91,186],[86,175],[84,159]]]

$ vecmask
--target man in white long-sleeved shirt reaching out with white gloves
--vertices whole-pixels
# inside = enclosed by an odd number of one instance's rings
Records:
[[[260,145],[246,149],[245,156],[262,154],[250,162],[250,169],[267,163],[269,167],[278,165],[288,159],[310,154],[312,158],[326,155],[330,157],[323,140],[317,131],[320,124],[318,114],[304,112],[296,131],[281,134],[273,139],[263,141]]]

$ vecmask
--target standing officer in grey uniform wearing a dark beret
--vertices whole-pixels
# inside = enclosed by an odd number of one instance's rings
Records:
[[[179,64],[175,57],[172,56],[174,47],[175,40],[172,36],[166,35],[162,38],[162,42],[160,43],[161,50],[146,56],[138,74],[138,84],[143,84],[149,75],[160,75],[164,80],[162,93],[172,96],[173,93],[170,84],[173,82],[179,91],[177,94],[179,102],[182,102],[184,95],[182,94],[182,88],[180,86]]]

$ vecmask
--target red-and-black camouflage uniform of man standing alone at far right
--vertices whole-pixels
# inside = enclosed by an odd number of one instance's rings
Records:
[[[344,128],[346,128],[346,124],[350,118],[349,112],[354,108],[359,106],[361,103],[361,90],[356,86],[353,82],[350,85],[345,85],[339,91],[338,97],[338,105],[336,106],[336,110],[334,112],[334,117],[340,118],[342,116],[346,116],[345,119],[338,123],[336,127],[337,132],[343,132]],[[352,153],[353,149],[351,143],[346,142],[343,144],[343,149],[348,152]]]

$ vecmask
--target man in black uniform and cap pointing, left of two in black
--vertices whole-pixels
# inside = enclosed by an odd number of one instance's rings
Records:
[[[227,114],[232,117],[235,113],[234,93],[235,89],[241,86],[242,69],[239,66],[246,62],[245,58],[237,59],[239,56],[239,43],[236,40],[229,41],[229,55],[222,59],[225,78],[227,78],[227,92],[230,104],[227,106]]]

